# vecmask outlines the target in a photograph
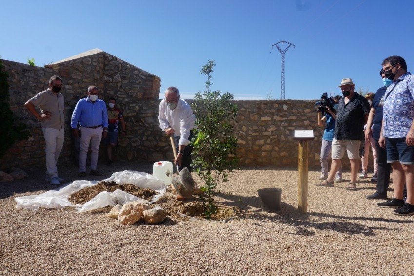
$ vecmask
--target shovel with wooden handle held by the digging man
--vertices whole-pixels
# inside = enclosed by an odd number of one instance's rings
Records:
[[[176,143],[174,142],[174,137],[171,135],[170,141],[171,146],[173,147],[174,159],[177,160]],[[179,171],[179,166],[177,164],[177,175],[173,175],[171,183],[177,193],[186,199],[190,198],[194,194],[194,187],[196,186],[196,183],[194,182],[194,179],[187,167],[183,168],[182,171]]]

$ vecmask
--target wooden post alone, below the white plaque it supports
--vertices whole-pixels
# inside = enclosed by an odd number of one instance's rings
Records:
[[[299,190],[298,190],[299,213],[308,212],[308,141],[299,141]]]

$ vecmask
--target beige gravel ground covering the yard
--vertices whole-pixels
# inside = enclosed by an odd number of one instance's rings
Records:
[[[152,164],[99,164],[113,172],[152,173]],[[396,216],[346,183],[316,187],[308,174],[308,213],[297,212],[297,170],[243,168],[218,186],[217,202],[241,213],[226,224],[167,218],[160,225],[119,226],[106,212],[73,209],[16,209],[15,197],[55,188],[44,169],[29,178],[0,183],[0,275],[413,275],[413,216]],[[77,179],[78,168],[59,167],[60,177]],[[196,178],[195,174],[193,174]],[[349,173],[344,179],[349,181]],[[94,179],[87,177],[86,179]],[[282,209],[261,210],[257,189],[279,187]],[[391,185],[392,188],[392,185]],[[388,193],[392,196],[392,192]]]

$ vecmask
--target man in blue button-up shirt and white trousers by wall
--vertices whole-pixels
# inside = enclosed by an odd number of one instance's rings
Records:
[[[104,101],[98,99],[99,90],[96,86],[88,87],[88,96],[80,99],[72,114],[71,128],[74,137],[78,137],[76,128],[80,123],[79,176],[86,176],[86,154],[91,144],[91,175],[102,175],[97,170],[100,140],[108,132],[108,113]]]

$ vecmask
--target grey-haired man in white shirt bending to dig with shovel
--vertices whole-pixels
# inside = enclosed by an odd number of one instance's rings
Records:
[[[193,146],[190,141],[193,138],[193,129],[197,128],[193,110],[186,101],[180,99],[179,90],[174,86],[167,88],[158,110],[159,127],[166,135],[174,136],[174,150],[177,152],[174,165],[178,166],[180,171],[187,168],[191,172]],[[177,199],[182,200],[184,197],[178,195]]]

